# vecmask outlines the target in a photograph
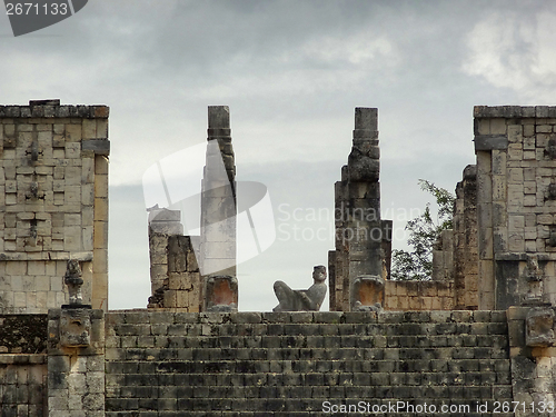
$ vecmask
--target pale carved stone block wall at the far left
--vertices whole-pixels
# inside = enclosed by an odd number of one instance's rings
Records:
[[[63,304],[70,257],[85,301],[108,308],[108,112],[60,100],[0,106],[0,312]]]

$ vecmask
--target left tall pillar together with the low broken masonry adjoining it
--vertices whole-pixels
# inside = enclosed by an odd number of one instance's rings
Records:
[[[158,203],[148,209],[149,308],[237,310],[236,166],[227,106],[209,107],[207,132],[197,247],[196,237],[182,236],[179,210],[159,208]]]

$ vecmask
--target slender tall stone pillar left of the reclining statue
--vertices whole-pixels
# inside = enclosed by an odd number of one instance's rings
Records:
[[[228,106],[208,108],[207,165],[201,197],[205,310],[236,310],[236,166]]]

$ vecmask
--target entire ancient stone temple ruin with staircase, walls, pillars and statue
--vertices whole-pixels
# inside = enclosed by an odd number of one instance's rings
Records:
[[[149,308],[107,309],[108,113],[0,106],[1,416],[554,415],[556,107],[475,108],[477,162],[428,281],[389,279],[378,110],[357,108],[331,311],[317,311],[319,266],[308,290],[276,285],[274,312],[237,311],[224,106],[209,108],[201,235],[152,205]]]

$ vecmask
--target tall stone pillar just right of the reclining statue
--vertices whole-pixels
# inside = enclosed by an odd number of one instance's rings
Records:
[[[378,109],[356,108],[348,165],[336,183],[336,254],[330,306],[366,310],[384,302],[383,240],[378,148]]]

